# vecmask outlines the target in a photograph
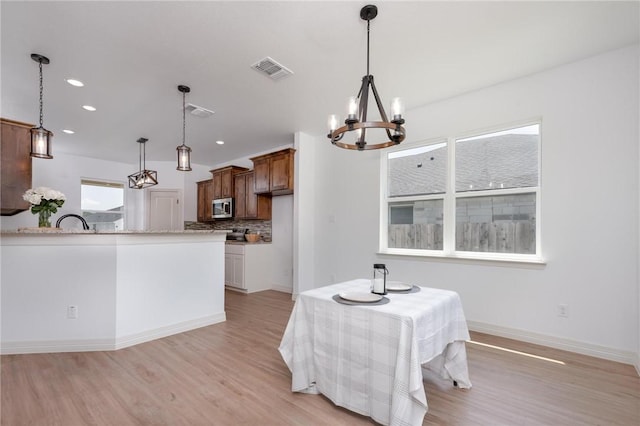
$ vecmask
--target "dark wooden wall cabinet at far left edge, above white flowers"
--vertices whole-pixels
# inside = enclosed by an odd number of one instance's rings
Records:
[[[31,128],[32,124],[0,118],[0,214],[11,216],[28,210],[30,204],[22,194],[31,188]]]

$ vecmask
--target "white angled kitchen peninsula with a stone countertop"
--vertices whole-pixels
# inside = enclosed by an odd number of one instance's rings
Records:
[[[116,350],[225,321],[225,233],[1,234],[3,354]]]

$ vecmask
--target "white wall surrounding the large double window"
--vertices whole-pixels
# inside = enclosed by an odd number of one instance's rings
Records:
[[[636,362],[638,57],[636,45],[406,114],[406,143],[542,119],[543,267],[376,255],[380,153],[317,137],[314,286],[380,261],[391,279],[460,293],[477,329]]]

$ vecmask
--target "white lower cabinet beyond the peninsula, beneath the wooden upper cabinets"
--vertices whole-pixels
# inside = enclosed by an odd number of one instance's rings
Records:
[[[225,244],[224,284],[244,293],[272,288],[272,247],[268,243]]]

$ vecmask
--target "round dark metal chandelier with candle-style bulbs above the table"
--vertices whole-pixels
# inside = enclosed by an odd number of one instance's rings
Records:
[[[336,115],[329,116],[329,134],[327,137],[331,139],[331,143],[345,149],[356,149],[358,151],[381,149],[393,145],[398,145],[405,138],[404,124],[404,106],[400,98],[394,98],[391,101],[391,116],[393,120],[387,119],[378,90],[373,82],[373,76],[369,74],[369,26],[371,20],[378,15],[378,8],[374,5],[367,5],[360,10],[360,18],[367,21],[367,75],[362,77],[362,85],[358,96],[349,99],[347,108],[347,118],[344,120],[344,126],[338,127],[339,119]],[[378,107],[381,121],[367,121],[367,108],[369,104],[369,91]],[[367,143],[367,129],[383,129],[388,138],[385,142]],[[343,137],[348,132],[354,132],[355,142],[343,142]]]

